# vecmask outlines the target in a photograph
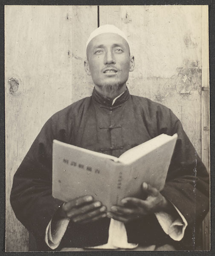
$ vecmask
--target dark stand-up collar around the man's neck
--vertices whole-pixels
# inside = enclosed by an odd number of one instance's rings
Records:
[[[99,92],[96,91],[95,87],[93,89],[92,96],[93,96],[93,100],[101,105],[104,105],[107,107],[116,107],[116,106],[124,103],[125,101],[128,101],[130,93],[128,91],[128,88],[126,87],[125,92],[119,98],[116,99],[113,106],[112,106],[113,100],[102,96]]]

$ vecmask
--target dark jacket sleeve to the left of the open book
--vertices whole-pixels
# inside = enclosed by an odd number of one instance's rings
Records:
[[[45,237],[46,226],[62,204],[52,197],[52,140],[63,140],[50,118],[15,173],[11,205],[18,220],[37,238]]]

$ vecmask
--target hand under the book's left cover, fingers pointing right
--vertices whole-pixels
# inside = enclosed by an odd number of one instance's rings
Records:
[[[81,196],[64,202],[58,214],[75,223],[87,223],[106,217],[106,207],[101,202],[94,201],[93,196]]]

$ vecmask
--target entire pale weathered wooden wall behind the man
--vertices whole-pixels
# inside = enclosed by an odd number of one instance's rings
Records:
[[[201,102],[208,102],[208,94],[203,100],[201,94],[206,13],[202,6],[99,7],[100,25],[115,24],[128,34],[136,62],[130,92],[170,107],[200,156],[209,133],[201,127]],[[26,251],[28,232],[9,203],[13,175],[44,122],[92,92],[84,58],[97,6],[6,6],[5,14],[6,251]],[[208,143],[203,152],[209,154]]]

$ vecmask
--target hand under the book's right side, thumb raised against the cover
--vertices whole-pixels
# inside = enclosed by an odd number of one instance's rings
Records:
[[[107,216],[114,220],[127,223],[131,220],[138,219],[144,215],[152,214],[158,211],[169,212],[173,207],[169,201],[151,185],[143,182],[142,190],[147,194],[145,200],[126,197],[121,200],[121,205],[114,205],[110,208]]]

